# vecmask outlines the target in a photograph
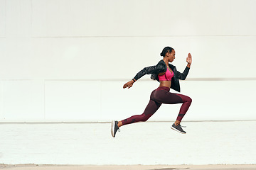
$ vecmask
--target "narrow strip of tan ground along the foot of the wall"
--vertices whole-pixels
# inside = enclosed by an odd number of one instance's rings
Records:
[[[9,170],[255,170],[256,165],[107,165],[107,166],[53,166],[53,165],[0,165]]]

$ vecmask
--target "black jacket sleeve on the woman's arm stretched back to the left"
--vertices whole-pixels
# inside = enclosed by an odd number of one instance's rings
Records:
[[[137,81],[138,79],[142,78],[145,74],[165,72],[164,70],[165,70],[165,68],[164,68],[163,64],[157,64],[157,65],[154,65],[154,66],[145,67],[144,69],[142,69],[140,72],[138,72],[136,74],[134,79]]]

